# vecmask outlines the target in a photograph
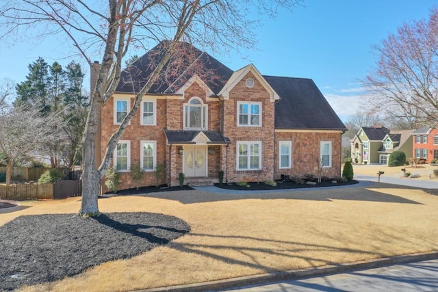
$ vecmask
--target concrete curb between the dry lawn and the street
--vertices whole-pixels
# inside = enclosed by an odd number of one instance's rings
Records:
[[[217,280],[211,282],[201,282],[196,284],[185,284],[171,287],[162,287],[156,289],[137,290],[138,292],[196,292],[196,291],[220,291],[232,289],[235,287],[246,287],[257,284],[268,284],[282,280],[294,280],[298,278],[308,278],[314,276],[326,276],[330,274],[345,273],[361,269],[374,269],[376,267],[385,267],[402,263],[412,263],[416,261],[428,261],[438,258],[438,251],[422,252],[417,254],[406,254],[402,256],[391,256],[388,258],[375,258],[368,261],[359,261],[355,263],[344,263],[338,265],[325,265],[308,269],[292,269],[289,271],[280,271],[270,274],[259,274],[253,276],[244,276],[226,280]]]

